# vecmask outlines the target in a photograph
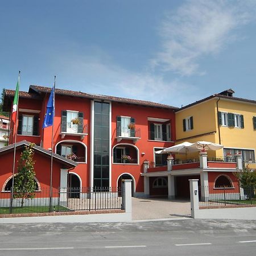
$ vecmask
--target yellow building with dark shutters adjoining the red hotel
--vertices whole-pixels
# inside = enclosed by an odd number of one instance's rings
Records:
[[[193,102],[176,112],[176,143],[209,141],[224,150],[209,151],[209,158],[225,159],[242,154],[245,162],[255,161],[256,101],[233,97],[232,89]],[[190,155],[191,156],[191,155]],[[193,154],[192,156],[197,156]],[[176,158],[185,158],[184,155]]]

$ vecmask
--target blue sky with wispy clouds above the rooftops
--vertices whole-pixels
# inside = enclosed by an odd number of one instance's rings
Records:
[[[180,107],[256,100],[256,0],[0,2],[0,90],[53,85]]]

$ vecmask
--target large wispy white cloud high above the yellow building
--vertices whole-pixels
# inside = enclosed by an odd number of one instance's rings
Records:
[[[152,59],[152,66],[180,75],[202,73],[200,58],[215,55],[236,40],[236,29],[255,18],[255,7],[255,1],[246,0],[185,2],[163,19],[159,28],[162,50]]]

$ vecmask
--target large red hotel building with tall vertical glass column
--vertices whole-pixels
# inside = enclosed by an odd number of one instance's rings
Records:
[[[51,150],[52,127],[42,129],[42,124],[50,92],[51,88],[36,85],[28,92],[19,92],[17,142],[34,142],[46,152]],[[5,111],[11,111],[14,93],[6,90]],[[53,152],[78,163],[68,172],[68,186],[119,187],[122,179],[132,179],[133,195],[143,196],[143,162],[167,166],[167,155],[155,151],[174,145],[177,109],[149,101],[56,89]],[[11,122],[9,144],[14,138]],[[50,168],[49,159],[44,158],[35,170],[39,184],[39,176],[48,175]],[[6,184],[8,175],[11,177],[11,168],[9,172],[1,176],[0,187]],[[53,184],[63,185],[61,171],[53,179]],[[150,180],[151,195],[168,194],[161,182],[163,178]]]

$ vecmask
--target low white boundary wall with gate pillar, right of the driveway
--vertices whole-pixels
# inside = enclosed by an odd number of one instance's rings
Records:
[[[189,180],[191,217],[204,219],[256,220],[256,207],[199,209],[198,180]]]

